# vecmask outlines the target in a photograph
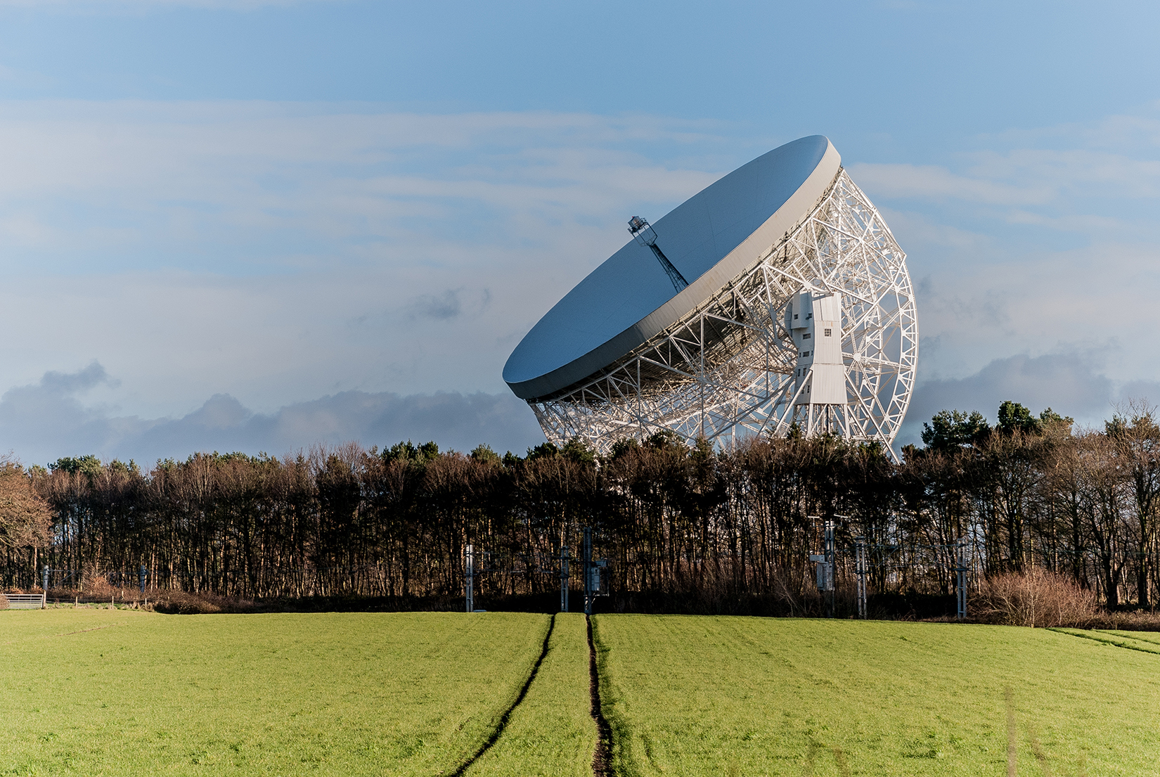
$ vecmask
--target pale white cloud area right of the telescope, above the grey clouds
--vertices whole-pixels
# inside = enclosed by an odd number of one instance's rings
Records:
[[[980,137],[942,165],[851,166],[908,254],[920,382],[1074,349],[1117,384],[1160,378],[1155,108]]]

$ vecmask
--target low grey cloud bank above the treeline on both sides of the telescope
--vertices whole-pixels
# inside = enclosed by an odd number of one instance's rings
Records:
[[[61,456],[95,453],[108,460],[183,459],[197,451],[283,455],[317,444],[357,441],[391,445],[401,440],[434,440],[440,448],[467,451],[480,443],[523,453],[544,441],[528,406],[506,393],[400,395],[343,391],[255,413],[230,394],[215,394],[180,417],[142,419],[86,406],[86,392],[116,385],[93,362],[75,372],[46,372],[38,383],[16,386],[0,397],[0,449],[27,464]],[[922,423],[941,409],[980,411],[992,421],[1003,400],[1038,413],[1052,407],[1080,424],[1100,424],[1116,404],[1130,398],[1160,398],[1160,383],[1116,383],[1082,353],[1015,355],[992,361],[965,378],[919,384],[896,448],[920,443]]]

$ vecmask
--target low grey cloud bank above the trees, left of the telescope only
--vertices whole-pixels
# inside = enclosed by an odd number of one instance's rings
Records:
[[[82,405],[79,394],[108,380],[94,362],[9,390],[0,398],[0,446],[27,464],[87,453],[151,464],[197,451],[282,455],[348,441],[382,448],[434,440],[462,451],[487,443],[501,453],[522,453],[544,440],[531,411],[510,394],[345,391],[269,414],[216,394],[184,416],[146,420]]]

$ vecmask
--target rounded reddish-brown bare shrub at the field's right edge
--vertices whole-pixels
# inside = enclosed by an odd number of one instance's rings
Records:
[[[971,601],[979,620],[1008,626],[1086,626],[1099,615],[1095,594],[1042,568],[988,578]]]

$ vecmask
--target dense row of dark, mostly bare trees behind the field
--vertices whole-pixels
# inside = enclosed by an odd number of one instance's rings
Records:
[[[524,457],[434,443],[349,444],[132,463],[65,458],[0,472],[0,584],[96,580],[245,598],[450,596],[472,544],[481,596],[558,590],[560,545],[593,527],[621,593],[800,596],[821,522],[864,537],[872,590],[954,590],[954,543],[973,579],[1065,573],[1109,605],[1160,588],[1160,428],[1133,405],[1102,430],[1003,402],[943,412],[900,464],[835,438],[753,438],[726,450],[666,434],[607,457],[578,443]],[[849,553],[841,573],[848,579]],[[577,583],[578,584],[578,583]]]

